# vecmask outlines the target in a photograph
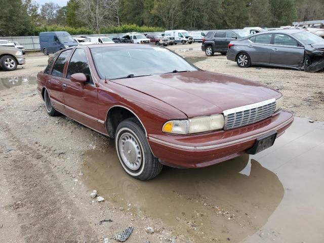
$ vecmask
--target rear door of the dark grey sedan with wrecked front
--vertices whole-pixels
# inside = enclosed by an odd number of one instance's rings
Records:
[[[252,63],[269,64],[272,33],[258,34],[249,38],[251,44],[248,45],[248,54],[251,57]]]

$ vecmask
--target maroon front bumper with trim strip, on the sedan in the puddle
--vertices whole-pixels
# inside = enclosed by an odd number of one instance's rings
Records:
[[[259,123],[237,129],[190,136],[151,134],[148,142],[154,155],[164,165],[201,168],[246,153],[258,137],[271,131],[276,131],[279,137],[293,120],[292,113],[279,111]]]

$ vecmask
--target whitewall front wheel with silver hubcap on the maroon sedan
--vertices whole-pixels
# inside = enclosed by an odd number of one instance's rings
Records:
[[[145,131],[135,117],[118,125],[115,146],[120,164],[130,176],[147,181],[161,172],[163,165],[152,154]]]

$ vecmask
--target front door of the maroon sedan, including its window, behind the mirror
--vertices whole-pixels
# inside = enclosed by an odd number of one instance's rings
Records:
[[[71,82],[70,78],[74,73],[84,73],[88,78],[87,83],[82,85]],[[66,115],[85,126],[99,130],[102,124],[98,121],[97,87],[84,49],[76,48],[72,54],[63,85]]]

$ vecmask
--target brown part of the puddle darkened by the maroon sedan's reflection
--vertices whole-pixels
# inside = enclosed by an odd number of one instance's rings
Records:
[[[147,182],[123,171],[113,145],[83,159],[89,190],[135,217],[160,219],[195,242],[239,242],[267,222],[284,196],[277,176],[247,154],[205,169],[164,167]]]

